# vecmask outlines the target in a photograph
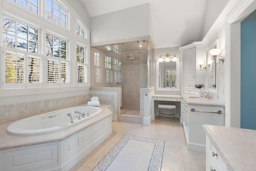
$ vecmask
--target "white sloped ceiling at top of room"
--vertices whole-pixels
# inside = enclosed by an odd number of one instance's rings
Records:
[[[208,0],[80,0],[90,17],[150,3],[156,48],[201,41]],[[212,18],[216,20],[216,18]],[[210,22],[213,24],[213,22]],[[209,22],[209,21],[208,21]]]

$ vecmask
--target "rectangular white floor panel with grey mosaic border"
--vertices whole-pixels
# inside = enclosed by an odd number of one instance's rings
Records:
[[[160,171],[165,141],[124,135],[92,171]]]

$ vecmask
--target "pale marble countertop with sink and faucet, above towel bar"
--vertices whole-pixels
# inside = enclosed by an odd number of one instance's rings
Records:
[[[188,103],[188,105],[207,105],[207,106],[220,106],[225,107],[225,103],[218,99],[195,99],[190,97],[196,97],[196,95],[192,94],[184,94],[181,93],[183,99]]]

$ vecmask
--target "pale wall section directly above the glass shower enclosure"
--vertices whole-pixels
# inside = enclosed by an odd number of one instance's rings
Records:
[[[148,4],[91,18],[91,45],[150,35]],[[104,43],[103,43],[104,44]]]

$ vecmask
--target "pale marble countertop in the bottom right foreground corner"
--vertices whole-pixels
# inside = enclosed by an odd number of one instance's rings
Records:
[[[203,128],[230,171],[256,169],[256,130],[216,125]]]

